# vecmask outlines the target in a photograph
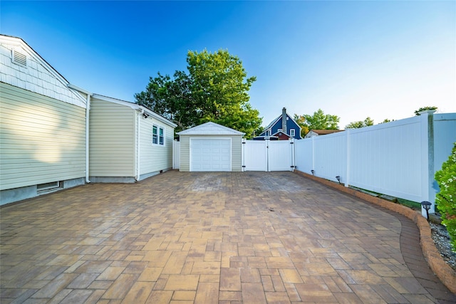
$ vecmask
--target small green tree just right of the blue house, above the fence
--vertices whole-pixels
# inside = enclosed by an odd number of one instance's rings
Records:
[[[341,120],[337,115],[325,114],[318,109],[314,115],[294,115],[294,120],[301,126],[301,136],[305,136],[310,130],[337,130]],[[304,133],[304,135],[303,135]]]

